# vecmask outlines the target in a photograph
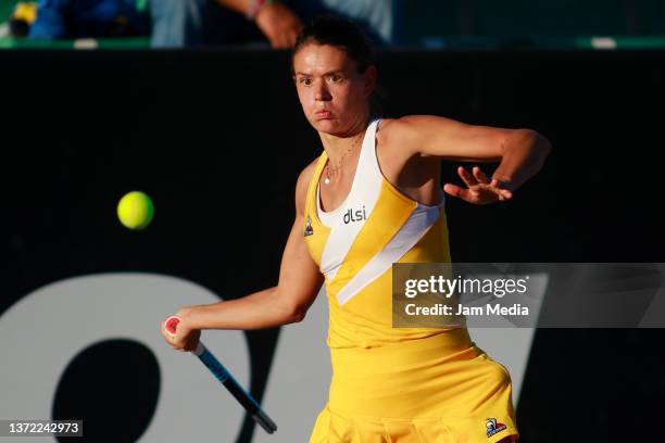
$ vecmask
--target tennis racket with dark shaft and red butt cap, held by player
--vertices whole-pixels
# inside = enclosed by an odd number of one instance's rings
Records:
[[[178,324],[180,322],[180,318],[178,316],[171,316],[166,319],[166,330],[174,334],[176,333],[176,329]],[[273,433],[277,430],[277,425],[261,409],[261,405],[250,395],[248,394],[240,383],[236,381],[236,379],[230,375],[228,370],[219,363],[215,356],[208,351],[208,347],[203,343],[199,341],[197,349],[195,351],[190,351],[195,354],[208,369],[215,376],[217,380],[224,384],[224,387],[231,393],[233,396],[236,397],[238,403],[242,405],[244,410],[256,421],[267,433]]]

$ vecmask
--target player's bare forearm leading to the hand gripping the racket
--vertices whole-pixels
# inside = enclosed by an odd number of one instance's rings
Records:
[[[301,313],[278,299],[276,287],[241,299],[185,307],[178,316],[189,329],[265,329],[302,319]]]

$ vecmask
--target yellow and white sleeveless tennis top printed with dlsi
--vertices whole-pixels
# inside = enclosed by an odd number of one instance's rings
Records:
[[[450,263],[450,251],[443,199],[424,205],[384,177],[376,156],[379,123],[365,131],[351,191],[337,210],[321,210],[325,151],[308,189],[303,233],[325,276],[334,349],[374,347],[444,331],[392,328],[392,264]]]

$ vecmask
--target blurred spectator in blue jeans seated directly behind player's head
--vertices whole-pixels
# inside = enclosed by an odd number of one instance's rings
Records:
[[[375,45],[396,41],[398,0],[150,0],[152,46],[267,41],[289,48],[303,21],[334,13],[359,23]],[[253,22],[253,23],[252,23]]]

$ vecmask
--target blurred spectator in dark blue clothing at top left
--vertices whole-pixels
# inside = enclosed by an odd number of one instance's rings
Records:
[[[29,38],[150,35],[147,0],[39,0]]]

